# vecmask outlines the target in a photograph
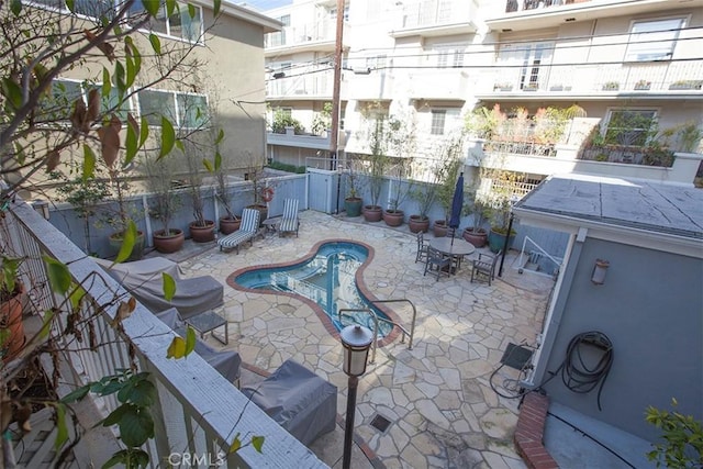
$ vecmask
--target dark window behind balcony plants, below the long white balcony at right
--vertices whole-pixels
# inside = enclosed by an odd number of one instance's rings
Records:
[[[655,129],[657,111],[651,109],[611,110],[605,126],[605,143],[643,146]]]

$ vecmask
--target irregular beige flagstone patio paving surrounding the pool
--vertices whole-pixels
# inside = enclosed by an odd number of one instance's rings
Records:
[[[432,236],[429,234],[428,236]],[[362,219],[301,212],[300,236],[267,235],[253,247],[222,253],[215,245],[181,263],[187,276],[209,273],[223,284],[233,271],[294,260],[324,239],[361,241],[375,249],[364,273],[379,299],[409,299],[417,309],[413,349],[400,338],[379,348],[376,362],[360,378],[355,427],[354,468],[522,468],[512,442],[517,400],[499,397],[489,383],[510,343],[534,345],[542,330],[553,280],[518,275],[507,259],[502,279],[489,287],[470,282],[470,263],[451,278],[423,277],[415,264],[415,237],[406,226],[388,228]],[[475,255],[476,256],[476,255]],[[242,384],[263,379],[257,369],[274,371],[293,358],[337,386],[337,412],[346,410],[347,377],[342,345],[303,301],[279,294],[225,287],[221,313],[230,321],[230,345],[253,371]],[[410,309],[393,306],[410,325]],[[219,342],[210,344],[223,347]],[[517,371],[502,368],[493,383],[503,386]],[[507,381],[506,381],[507,380]],[[390,421],[380,432],[377,416]],[[343,425],[319,438],[311,449],[331,467],[342,467]]]

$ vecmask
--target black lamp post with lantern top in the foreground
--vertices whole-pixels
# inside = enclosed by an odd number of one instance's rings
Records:
[[[338,13],[337,13],[338,14]],[[347,393],[347,420],[344,428],[344,457],[342,469],[349,469],[352,462],[352,440],[354,439],[354,414],[356,412],[356,388],[359,377],[366,371],[366,360],[373,340],[373,334],[360,325],[346,326],[339,333],[344,346],[344,372],[349,377]]]

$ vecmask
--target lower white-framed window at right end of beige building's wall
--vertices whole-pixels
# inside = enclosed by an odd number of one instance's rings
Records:
[[[140,114],[146,118],[149,125],[161,125],[161,115],[181,129],[200,129],[208,124],[205,96],[142,90],[138,98]]]

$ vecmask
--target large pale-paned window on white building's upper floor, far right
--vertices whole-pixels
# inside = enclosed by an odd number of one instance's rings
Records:
[[[670,60],[684,19],[635,21],[629,32],[626,62]]]

